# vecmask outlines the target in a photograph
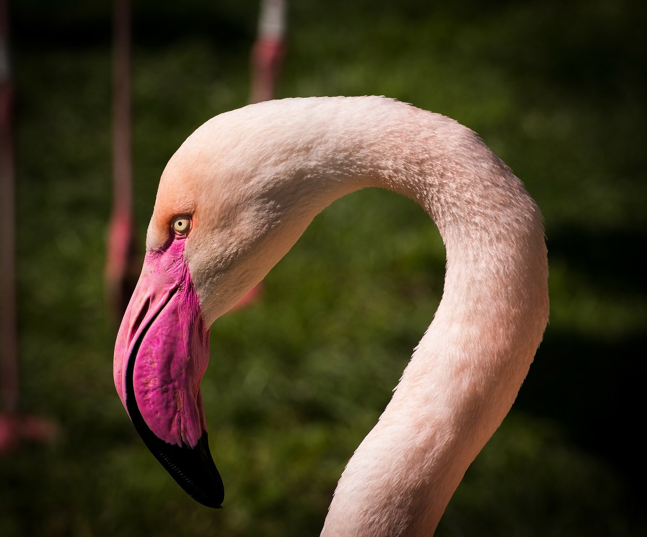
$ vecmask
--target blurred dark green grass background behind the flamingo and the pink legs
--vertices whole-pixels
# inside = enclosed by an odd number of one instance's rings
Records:
[[[135,1],[142,248],[166,160],[247,102],[257,12],[241,0]],[[111,6],[21,0],[12,16],[21,397],[60,435],[0,459],[0,534],[318,534],[440,300],[435,228],[396,195],[351,195],[316,218],[258,303],[214,324],[203,395],[226,500],[201,507],[113,388],[102,289]],[[279,96],[385,94],[452,116],[545,215],[551,323],[437,534],[644,534],[644,6],[300,0],[289,17]]]

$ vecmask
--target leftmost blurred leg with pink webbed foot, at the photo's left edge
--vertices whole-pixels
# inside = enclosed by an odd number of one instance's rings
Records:
[[[0,0],[0,455],[15,449],[21,439],[47,441],[56,435],[49,421],[18,413],[14,87],[8,48],[9,6],[8,0]]]

